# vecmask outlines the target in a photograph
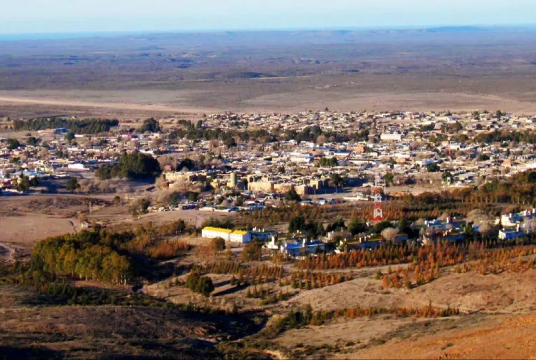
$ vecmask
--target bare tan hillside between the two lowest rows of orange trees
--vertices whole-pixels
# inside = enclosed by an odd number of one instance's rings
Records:
[[[394,269],[394,267],[393,267]],[[310,304],[313,308],[336,309],[355,306],[458,307],[463,312],[486,311],[499,313],[527,313],[536,311],[536,270],[523,274],[503,273],[480,275],[475,271],[465,274],[450,272],[414,288],[383,289],[379,280],[371,277],[322,289],[300,292],[284,306]]]

